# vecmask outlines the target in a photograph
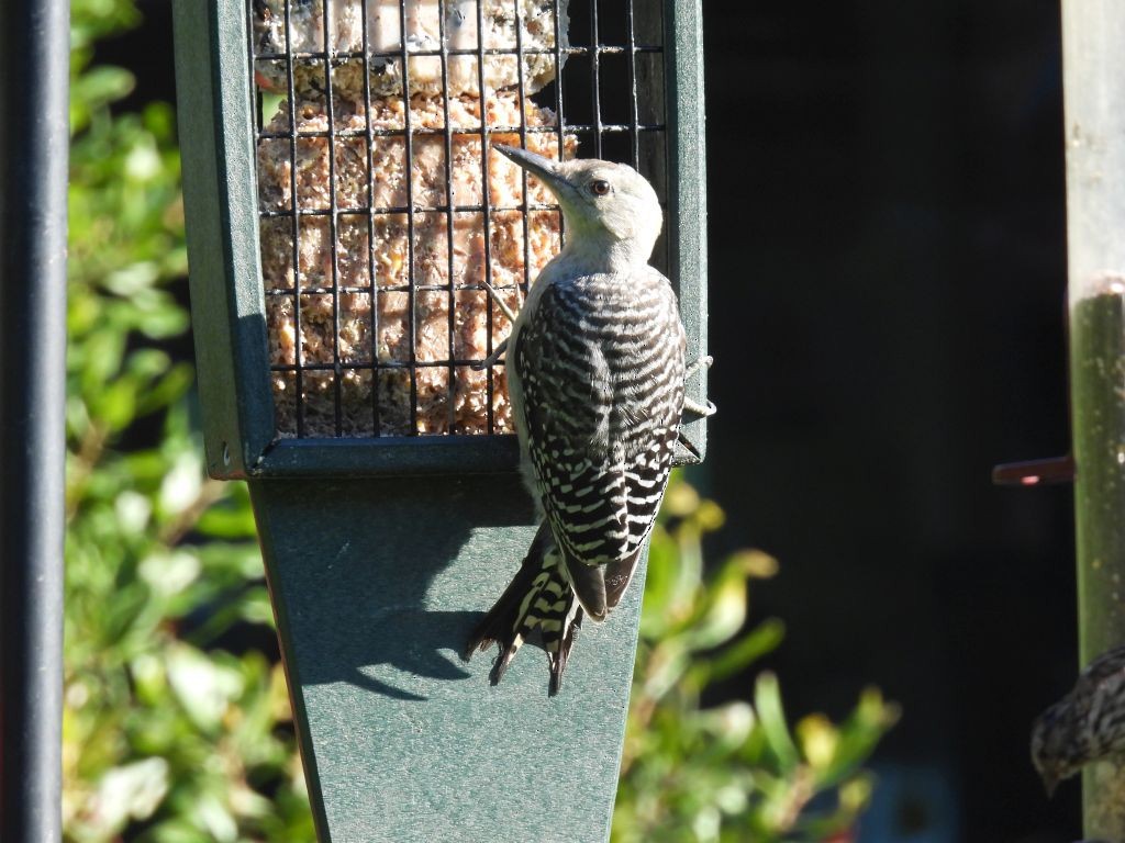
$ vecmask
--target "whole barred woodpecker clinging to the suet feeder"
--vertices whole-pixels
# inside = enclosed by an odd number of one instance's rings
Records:
[[[583,615],[603,620],[632,579],[668,482],[690,370],[676,296],[648,265],[662,226],[652,187],[623,164],[496,148],[557,197],[567,239],[486,361],[505,355],[524,479],[543,522],[466,655],[497,643],[498,682],[539,629],[555,694]]]

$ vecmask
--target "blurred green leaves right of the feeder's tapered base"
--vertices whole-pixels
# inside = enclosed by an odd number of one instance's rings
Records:
[[[791,731],[768,672],[747,699],[702,707],[709,685],[749,676],[784,634],[775,619],[746,628],[750,581],[772,577],[773,559],[740,551],[705,564],[703,536],[722,522],[714,501],[678,478],[669,486],[649,551],[612,840],[846,843],[874,783],[863,762],[898,709],[868,689],[843,724],[814,714]]]

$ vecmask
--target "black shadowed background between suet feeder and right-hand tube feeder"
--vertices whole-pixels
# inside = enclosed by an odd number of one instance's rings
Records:
[[[141,7],[99,57],[174,101]],[[1077,783],[1047,801],[1028,761],[1078,668],[1070,491],[989,482],[1066,448],[1058,4],[704,13],[714,551],[781,560],[754,611],[792,715],[902,704],[865,843],[1074,840]]]

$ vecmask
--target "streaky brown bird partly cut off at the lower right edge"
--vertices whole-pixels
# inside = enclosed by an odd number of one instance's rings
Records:
[[[1054,792],[1084,764],[1125,753],[1125,647],[1102,653],[1032,728],[1032,761]]]

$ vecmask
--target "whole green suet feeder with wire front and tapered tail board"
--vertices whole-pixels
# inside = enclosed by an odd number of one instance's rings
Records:
[[[492,146],[646,175],[703,354],[700,0],[178,0],[176,49],[207,465],[250,482],[322,842],[605,839],[642,580],[557,697],[457,658],[536,532],[485,284],[518,309],[567,236]]]

